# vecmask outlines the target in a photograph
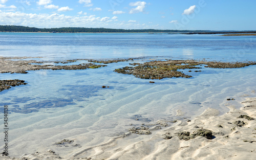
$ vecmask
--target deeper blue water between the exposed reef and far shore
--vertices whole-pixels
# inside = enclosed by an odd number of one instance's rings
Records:
[[[255,36],[0,33],[1,56],[49,59],[169,56],[255,60]]]

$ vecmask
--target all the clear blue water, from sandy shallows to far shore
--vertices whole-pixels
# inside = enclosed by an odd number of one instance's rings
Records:
[[[12,110],[10,155],[51,148],[63,139],[83,140],[81,143],[89,146],[127,132],[130,124],[191,119],[208,107],[220,110],[221,114],[229,110],[227,104],[239,108],[245,97],[255,96],[255,65],[202,67],[200,73],[184,70],[193,77],[164,78],[154,80],[154,84],[149,83],[151,80],[113,71],[134,62],[256,61],[255,55],[256,36],[0,33],[0,56],[4,57],[41,57],[32,58],[40,61],[136,58],[79,71],[0,74],[1,80],[20,79],[28,83],[0,93],[0,107],[8,105]],[[69,64],[87,62],[78,60]],[[227,101],[227,98],[235,100]],[[1,115],[3,130],[3,109]],[[3,132],[0,137],[4,138]],[[0,146],[4,146],[4,141],[0,141]]]

